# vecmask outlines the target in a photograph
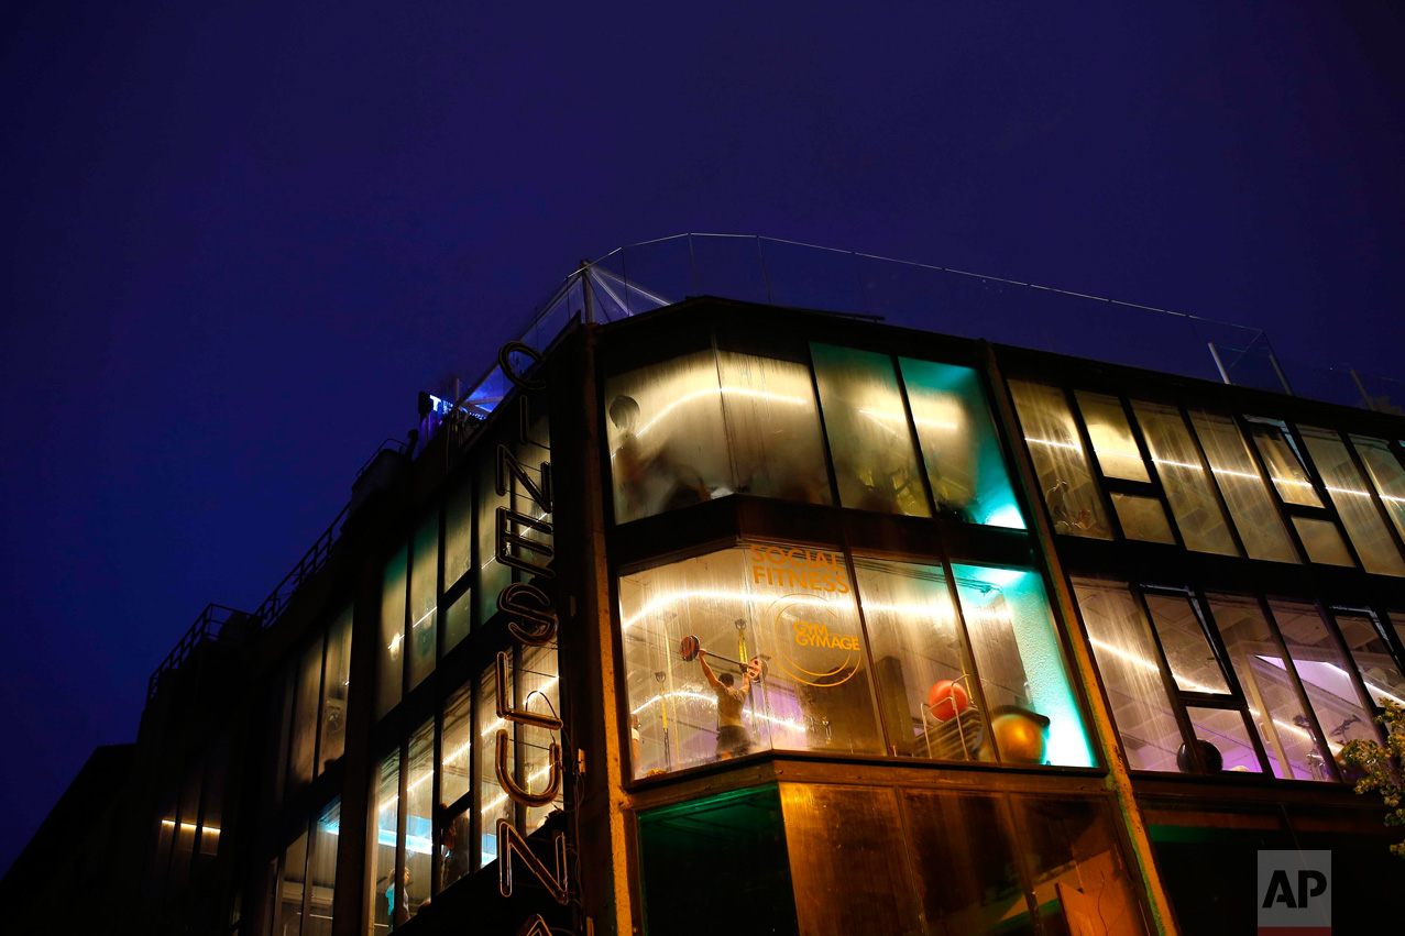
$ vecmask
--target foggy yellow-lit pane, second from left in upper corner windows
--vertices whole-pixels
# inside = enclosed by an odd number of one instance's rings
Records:
[[[830,503],[809,368],[795,361],[721,351],[718,371],[736,490]]]

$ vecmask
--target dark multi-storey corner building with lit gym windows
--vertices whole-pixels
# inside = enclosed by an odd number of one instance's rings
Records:
[[[1401,877],[1339,756],[1405,700],[1399,416],[712,298],[422,416],[153,676],[90,923],[1245,932],[1325,849],[1366,932]]]

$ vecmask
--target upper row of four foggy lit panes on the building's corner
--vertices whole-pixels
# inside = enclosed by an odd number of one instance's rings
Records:
[[[976,371],[829,344],[798,357],[724,346],[610,377],[615,521],[731,493],[829,505],[832,471],[844,507],[1024,528]]]

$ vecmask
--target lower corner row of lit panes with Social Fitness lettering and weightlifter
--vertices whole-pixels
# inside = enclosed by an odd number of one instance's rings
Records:
[[[763,749],[1092,766],[1037,573],[953,566],[958,614],[940,566],[854,571],[857,594],[843,552],[747,544],[622,576],[634,774]]]

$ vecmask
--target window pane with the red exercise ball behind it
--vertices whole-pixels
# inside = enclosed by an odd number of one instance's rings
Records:
[[[941,566],[854,559],[892,753],[991,759],[969,651]]]

